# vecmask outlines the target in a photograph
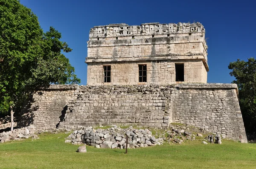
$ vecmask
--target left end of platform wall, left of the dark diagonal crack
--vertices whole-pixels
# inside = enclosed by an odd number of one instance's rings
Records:
[[[38,129],[56,128],[65,117],[67,105],[76,100],[78,85],[50,85],[31,92],[17,127],[33,124]]]

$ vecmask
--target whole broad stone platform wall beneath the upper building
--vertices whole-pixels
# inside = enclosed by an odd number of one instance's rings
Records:
[[[36,90],[32,99],[20,125],[76,129],[110,124],[168,127],[180,122],[247,141],[234,84],[52,85]]]

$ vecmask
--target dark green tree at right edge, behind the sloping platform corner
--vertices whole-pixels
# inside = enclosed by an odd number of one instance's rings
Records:
[[[230,62],[231,76],[236,79],[239,89],[239,104],[247,132],[256,131],[256,60],[249,58],[248,62],[238,59]]]

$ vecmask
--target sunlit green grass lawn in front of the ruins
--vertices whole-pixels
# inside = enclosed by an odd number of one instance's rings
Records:
[[[0,144],[0,169],[256,169],[256,144],[223,140],[222,144],[191,141],[182,145],[140,149],[96,149],[76,152],[79,146],[65,144],[67,135],[41,134],[32,141]]]

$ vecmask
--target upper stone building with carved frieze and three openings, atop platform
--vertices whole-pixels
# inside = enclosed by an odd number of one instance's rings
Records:
[[[87,42],[87,85],[207,83],[201,23],[95,26]]]

